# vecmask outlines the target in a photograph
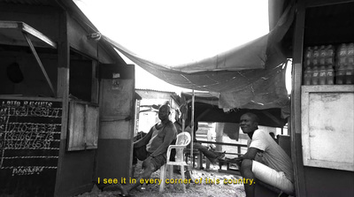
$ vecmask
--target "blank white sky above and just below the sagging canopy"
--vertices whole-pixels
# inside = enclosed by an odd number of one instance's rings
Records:
[[[102,34],[140,57],[161,64],[213,57],[269,31],[266,0],[74,2]],[[136,88],[181,91],[136,67]]]

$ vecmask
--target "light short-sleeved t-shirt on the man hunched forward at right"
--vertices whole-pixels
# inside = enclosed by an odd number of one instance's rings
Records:
[[[293,164],[289,155],[264,131],[256,130],[250,140],[249,148],[264,151],[263,160],[266,165],[277,171],[283,171],[285,176],[294,183]]]

